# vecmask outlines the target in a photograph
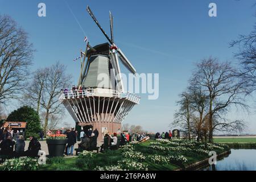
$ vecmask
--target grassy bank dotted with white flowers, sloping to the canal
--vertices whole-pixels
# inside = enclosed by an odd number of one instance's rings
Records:
[[[39,170],[175,170],[208,158],[211,150],[220,154],[229,147],[208,144],[205,148],[187,140],[149,140],[104,154],[85,152],[76,158],[52,158]]]

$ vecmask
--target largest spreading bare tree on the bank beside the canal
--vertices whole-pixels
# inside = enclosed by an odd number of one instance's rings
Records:
[[[242,95],[246,93],[246,85],[237,77],[237,71],[229,62],[219,63],[210,57],[196,65],[191,79],[192,85],[201,87],[209,97],[209,142],[213,142],[213,130],[225,124],[214,127],[213,116],[222,118],[232,105],[246,107]],[[225,123],[229,123],[227,120]],[[241,122],[240,122],[241,123]],[[237,122],[237,124],[240,124]],[[234,127],[236,129],[237,127]]]

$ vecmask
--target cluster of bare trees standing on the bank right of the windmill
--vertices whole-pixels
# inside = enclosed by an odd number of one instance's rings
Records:
[[[217,59],[201,60],[189,80],[187,90],[180,94],[179,110],[174,114],[172,125],[183,125],[188,138],[192,134],[209,138],[213,142],[213,131],[242,131],[245,123],[230,121],[225,114],[238,106],[247,108],[243,96],[248,94],[247,81],[239,76],[229,62]]]

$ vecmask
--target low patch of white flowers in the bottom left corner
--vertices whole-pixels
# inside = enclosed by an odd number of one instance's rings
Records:
[[[4,171],[36,171],[39,164],[35,158],[14,158],[7,159],[2,167]]]

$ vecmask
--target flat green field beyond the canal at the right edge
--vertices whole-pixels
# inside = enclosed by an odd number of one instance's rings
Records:
[[[218,137],[213,138],[216,143],[256,143],[253,137]]]

